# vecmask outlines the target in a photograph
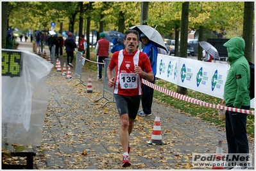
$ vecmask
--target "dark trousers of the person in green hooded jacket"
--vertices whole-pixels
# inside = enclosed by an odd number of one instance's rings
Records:
[[[233,107],[233,105],[229,107]],[[250,110],[250,106],[241,106],[241,109]],[[225,114],[228,153],[249,153],[249,143],[246,134],[247,115],[234,111],[226,111]]]

